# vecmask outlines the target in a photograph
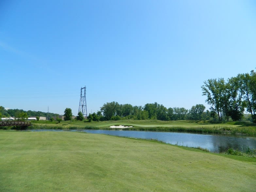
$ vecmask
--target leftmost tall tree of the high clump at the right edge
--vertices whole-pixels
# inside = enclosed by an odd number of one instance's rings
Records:
[[[214,111],[218,114],[219,121],[221,121],[224,108],[223,101],[226,95],[224,79],[208,79],[201,88],[203,91],[202,95],[207,96],[206,102],[213,106]]]

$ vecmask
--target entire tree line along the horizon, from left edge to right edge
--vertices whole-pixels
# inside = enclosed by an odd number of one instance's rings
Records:
[[[203,104],[196,104],[191,109],[184,107],[166,108],[162,104],[147,103],[144,106],[131,104],[118,104],[117,102],[105,103],[97,113],[89,114],[89,121],[104,120],[215,120],[241,121],[245,109],[251,115],[251,120],[256,122],[256,72],[238,74],[227,81],[224,78],[208,79],[201,86],[202,95],[206,96],[207,104],[211,105],[210,111],[205,111]],[[22,109],[5,109],[0,106],[1,117],[27,117],[42,116],[53,119],[59,114],[41,111],[24,111]],[[72,119],[72,111],[66,108],[64,120]],[[83,120],[82,113],[78,113],[77,120]]]

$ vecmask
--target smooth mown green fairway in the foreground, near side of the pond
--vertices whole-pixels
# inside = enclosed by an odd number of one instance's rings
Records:
[[[0,131],[0,191],[255,191],[255,158],[77,132]],[[251,161],[251,162],[249,162]]]

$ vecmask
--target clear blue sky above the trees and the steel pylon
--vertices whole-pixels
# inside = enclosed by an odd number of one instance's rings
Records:
[[[77,115],[107,102],[204,104],[256,68],[255,1],[1,1],[0,105]]]

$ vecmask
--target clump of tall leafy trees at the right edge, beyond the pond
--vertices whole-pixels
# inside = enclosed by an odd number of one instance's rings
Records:
[[[208,79],[204,82],[202,95],[211,105],[210,110],[216,113],[218,120],[223,117],[229,121],[241,121],[245,109],[251,114],[251,119],[256,122],[256,73],[238,74],[227,81],[223,78]]]

